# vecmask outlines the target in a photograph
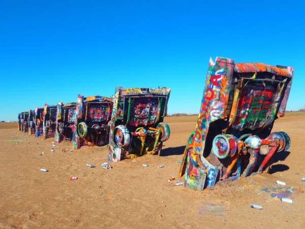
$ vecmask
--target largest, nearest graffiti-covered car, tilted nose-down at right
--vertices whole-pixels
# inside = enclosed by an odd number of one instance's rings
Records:
[[[292,67],[210,60],[196,130],[179,170],[185,186],[202,190],[268,171],[272,156],[290,146],[285,132],[271,129],[284,116],[292,77]]]

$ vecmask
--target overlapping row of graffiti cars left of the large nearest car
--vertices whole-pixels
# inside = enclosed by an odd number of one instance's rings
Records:
[[[116,88],[111,98],[78,95],[77,102],[45,104],[18,114],[18,129],[28,134],[84,146],[109,144],[109,161],[159,154],[170,135],[167,114],[170,89]]]

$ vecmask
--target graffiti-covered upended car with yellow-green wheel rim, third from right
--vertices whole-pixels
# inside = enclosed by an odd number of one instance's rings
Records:
[[[109,141],[109,126],[113,101],[102,96],[78,95],[76,119],[73,132],[73,147],[103,146]]]

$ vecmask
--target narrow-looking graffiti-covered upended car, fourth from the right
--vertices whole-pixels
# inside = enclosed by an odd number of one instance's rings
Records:
[[[55,130],[56,143],[63,140],[72,140],[75,119],[76,103],[57,103]]]

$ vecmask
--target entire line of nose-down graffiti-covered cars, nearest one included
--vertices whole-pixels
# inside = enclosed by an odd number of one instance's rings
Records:
[[[290,137],[272,127],[285,115],[292,78],[292,67],[210,59],[196,129],[178,174],[185,186],[202,190],[268,172],[275,155],[288,155]],[[112,99],[79,95],[76,104],[21,113],[20,126],[57,142],[72,139],[75,149],[109,139],[109,161],[160,154],[170,135],[163,122],[169,94],[167,88],[117,88]]]

